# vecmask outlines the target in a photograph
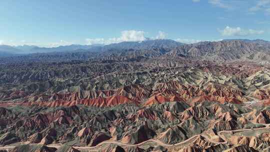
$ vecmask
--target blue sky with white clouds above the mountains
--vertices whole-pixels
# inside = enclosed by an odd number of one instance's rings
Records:
[[[0,43],[270,40],[270,0],[1,0]]]

